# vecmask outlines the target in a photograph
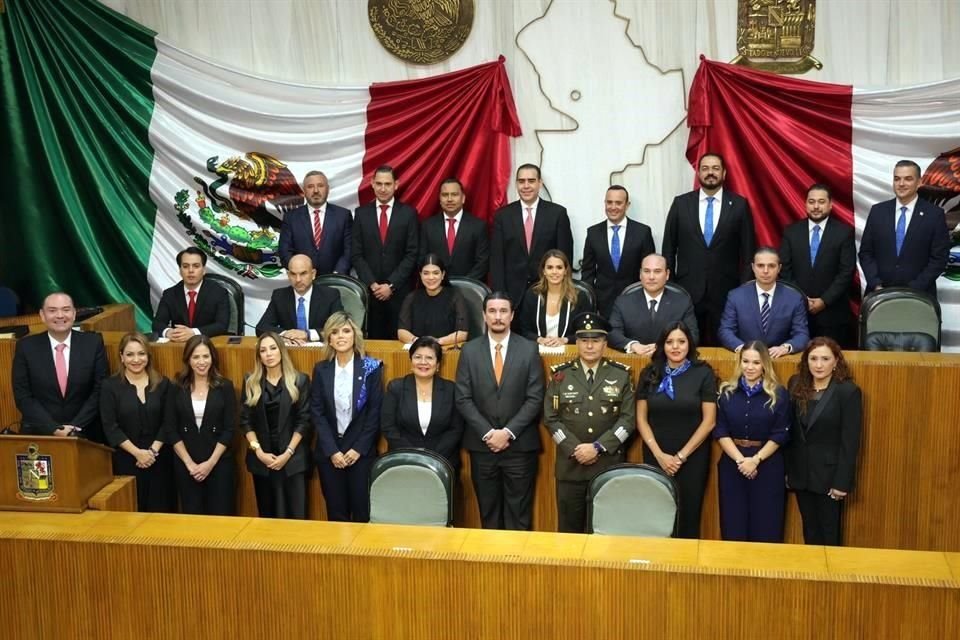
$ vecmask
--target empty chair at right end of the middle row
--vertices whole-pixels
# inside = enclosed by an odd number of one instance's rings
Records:
[[[871,291],[860,305],[860,348],[940,351],[940,303],[906,287]]]

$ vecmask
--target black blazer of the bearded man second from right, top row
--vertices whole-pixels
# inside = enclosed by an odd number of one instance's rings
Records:
[[[810,225],[806,219],[783,231],[780,244],[780,278],[793,282],[808,298],[821,298],[825,305],[817,314],[825,324],[846,324],[850,311],[850,285],[857,268],[853,227],[829,216],[821,223],[816,264],[810,264]]]

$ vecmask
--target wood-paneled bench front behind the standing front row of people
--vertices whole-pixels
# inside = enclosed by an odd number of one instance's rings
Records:
[[[117,344],[120,333],[105,333],[111,369],[119,363]],[[244,338],[240,345],[228,345],[226,338],[216,338],[221,356],[221,369],[237,387],[243,374],[254,362],[253,338]],[[409,371],[409,358],[399,344],[389,341],[369,341],[370,355],[380,358],[385,365],[385,379],[403,376]],[[9,386],[9,362],[13,343],[0,341],[0,386]],[[293,349],[292,357],[302,371],[312,373],[320,357],[314,348]],[[702,349],[706,359],[721,378],[731,375],[734,367],[732,353],[721,349]],[[156,345],[154,361],[168,376],[182,367],[182,347],[176,344]],[[574,354],[568,348],[566,355],[544,357],[544,366],[562,362]],[[634,375],[646,364],[646,359],[609,352],[632,367]],[[453,379],[459,353],[447,352],[441,373]],[[929,549],[960,551],[960,438],[956,437],[954,423],[960,416],[960,356],[953,354],[908,354],[849,352],[854,377],[864,391],[864,437],[860,457],[857,487],[847,500],[846,541],[852,546],[893,549]],[[796,372],[799,356],[784,358],[775,363],[778,376],[785,383]],[[16,410],[9,394],[0,393],[0,424],[16,421]],[[243,434],[237,434],[233,454],[238,465],[238,513],[256,515],[253,483],[243,466],[246,455]],[[534,528],[538,531],[556,529],[556,502],[553,465],[555,448],[541,429],[543,453],[537,477],[534,501]],[[720,451],[716,445],[714,462]],[[381,450],[385,448],[383,442]],[[641,446],[635,440],[628,459],[640,461]],[[476,496],[469,478],[466,454],[462,456],[461,482],[458,484],[457,526],[479,527]],[[717,515],[715,464],[704,500],[702,536],[719,539]],[[308,485],[309,516],[324,519],[326,510],[316,473]],[[787,505],[786,534],[788,542],[801,542],[800,517],[796,503],[790,497]]]

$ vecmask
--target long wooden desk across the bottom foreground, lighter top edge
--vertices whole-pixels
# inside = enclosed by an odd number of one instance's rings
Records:
[[[0,521],[5,638],[949,638],[960,624],[947,553],[93,513]]]

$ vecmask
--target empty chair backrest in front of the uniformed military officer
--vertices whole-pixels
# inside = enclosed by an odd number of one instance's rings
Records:
[[[590,481],[590,533],[669,538],[680,515],[677,485],[647,464],[618,464]]]

